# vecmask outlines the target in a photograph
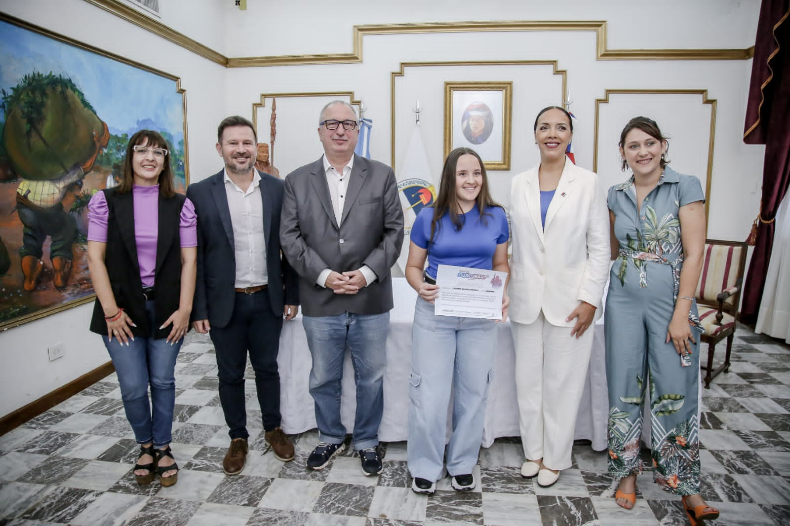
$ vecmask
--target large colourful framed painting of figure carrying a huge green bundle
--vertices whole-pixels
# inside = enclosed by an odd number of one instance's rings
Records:
[[[92,298],[88,201],[137,130],[186,190],[184,107],[176,77],[0,15],[0,329]]]

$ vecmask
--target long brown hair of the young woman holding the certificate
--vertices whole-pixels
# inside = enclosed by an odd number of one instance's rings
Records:
[[[491,216],[489,212],[486,212],[488,207],[498,206],[502,208],[502,205],[498,205],[491,197],[491,192],[488,191],[486,167],[483,164],[483,160],[477,155],[477,152],[472,148],[455,148],[447,156],[445,165],[442,168],[442,179],[439,181],[439,193],[436,197],[436,203],[433,206],[434,216],[431,219],[431,237],[428,238],[429,247],[434,242],[434,232],[438,235],[438,229],[442,228],[442,217],[444,217],[447,212],[450,212],[450,221],[453,223],[455,231],[461,231],[461,228],[464,227],[464,216],[457,212],[461,209],[461,205],[458,205],[458,197],[455,191],[455,170],[458,159],[465,155],[476,157],[477,162],[480,163],[480,173],[483,175],[483,184],[480,186],[480,193],[477,194],[477,199],[475,200],[477,211],[480,212],[480,221],[483,224],[487,224],[485,216]]]

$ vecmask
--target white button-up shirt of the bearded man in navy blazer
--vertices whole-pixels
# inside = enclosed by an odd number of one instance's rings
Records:
[[[253,168],[253,179],[246,192],[224,171],[225,195],[231,210],[233,244],[236,258],[236,288],[269,283],[266,269],[266,243],[263,235],[261,175]]]

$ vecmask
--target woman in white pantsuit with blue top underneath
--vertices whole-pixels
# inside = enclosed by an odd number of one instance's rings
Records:
[[[568,112],[544,108],[534,130],[540,164],[510,186],[510,320],[526,457],[521,475],[537,475],[547,487],[571,465],[589,326],[600,317],[609,271],[609,223],[598,176],[565,154],[573,135]]]

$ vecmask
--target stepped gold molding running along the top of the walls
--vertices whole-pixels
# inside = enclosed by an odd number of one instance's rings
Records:
[[[596,33],[597,60],[746,60],[754,56],[754,46],[746,49],[608,49],[606,21],[472,21],[355,25],[352,27],[351,53],[228,58],[137,11],[121,0],[85,0],[85,2],[228,68],[354,64],[363,62],[364,36],[468,32],[591,31]]]

